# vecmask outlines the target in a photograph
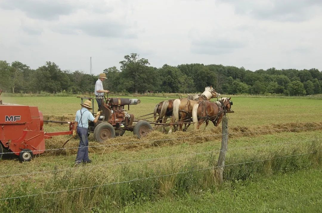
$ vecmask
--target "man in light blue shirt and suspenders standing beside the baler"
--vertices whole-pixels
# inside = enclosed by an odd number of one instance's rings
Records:
[[[83,104],[81,104],[82,109],[76,112],[73,137],[76,137],[77,134],[80,137],[80,145],[78,148],[77,156],[75,164],[83,163],[91,163],[92,161],[88,157],[88,121],[97,122],[100,112],[97,112],[96,117],[92,115],[89,110],[92,110],[92,102],[86,100]]]

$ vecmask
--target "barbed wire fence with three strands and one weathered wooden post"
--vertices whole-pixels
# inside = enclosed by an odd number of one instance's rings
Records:
[[[60,192],[64,192],[64,191],[76,191],[76,190],[96,188],[96,187],[113,185],[113,184],[123,184],[123,183],[135,182],[135,181],[140,181],[140,180],[144,180],[144,179],[160,178],[160,177],[178,175],[178,174],[183,174],[183,173],[191,173],[191,172],[209,170],[209,169],[216,169],[217,170],[219,182],[222,183],[223,182],[223,169],[224,169],[224,167],[233,166],[233,165],[240,165],[240,164],[249,164],[249,163],[261,162],[261,161],[268,161],[268,160],[278,159],[278,158],[287,158],[287,157],[292,157],[292,156],[308,155],[308,154],[312,154],[312,153],[322,152],[322,150],[315,150],[315,151],[306,152],[306,153],[300,153],[300,154],[294,154],[294,155],[285,155],[285,156],[276,157],[276,158],[267,158],[267,159],[261,159],[261,160],[255,160],[255,161],[249,161],[249,162],[242,162],[242,163],[225,165],[224,164],[224,162],[225,162],[225,154],[226,154],[227,151],[230,151],[230,150],[251,149],[251,148],[255,148],[255,147],[274,146],[274,145],[283,146],[283,145],[289,145],[289,144],[301,143],[301,142],[307,142],[307,141],[319,141],[319,140],[322,139],[322,138],[313,138],[313,139],[306,139],[306,140],[301,140],[301,141],[298,141],[298,140],[295,141],[294,140],[294,141],[288,141],[288,142],[282,142],[282,143],[271,143],[271,144],[263,144],[263,145],[258,145],[258,146],[244,146],[244,147],[228,149],[228,135],[257,133],[257,132],[280,132],[280,131],[289,131],[289,130],[296,131],[296,130],[299,130],[299,129],[313,129],[313,128],[320,129],[320,128],[322,128],[322,126],[229,133],[228,132],[228,119],[224,117],[223,121],[222,121],[222,130],[223,130],[222,134],[209,134],[209,135],[194,136],[194,137],[167,138],[167,139],[161,139],[161,140],[148,140],[148,141],[138,141],[138,142],[127,142],[127,143],[118,143],[118,144],[104,144],[104,145],[97,145],[97,146],[88,146],[88,147],[119,146],[119,145],[128,145],[128,144],[134,144],[134,143],[147,143],[147,142],[166,141],[166,140],[185,139],[185,138],[198,138],[198,137],[205,137],[205,136],[222,136],[222,147],[221,147],[220,150],[214,150],[214,151],[208,151],[208,152],[199,152],[199,153],[190,153],[190,154],[183,154],[183,155],[170,155],[170,156],[165,156],[165,157],[148,158],[148,159],[140,159],[140,160],[133,160],[133,161],[123,161],[123,162],[115,162],[115,163],[109,163],[109,164],[95,164],[95,165],[91,165],[91,166],[69,167],[69,168],[46,170],[46,171],[35,171],[35,172],[29,172],[29,173],[6,174],[6,175],[0,176],[0,178],[8,178],[8,177],[13,177],[13,176],[23,176],[23,175],[33,175],[33,174],[40,174],[40,173],[62,172],[62,171],[67,171],[67,170],[82,170],[82,169],[86,169],[86,168],[95,168],[95,167],[101,167],[101,166],[113,166],[113,165],[118,165],[118,164],[149,162],[149,161],[157,161],[157,160],[161,160],[161,159],[179,158],[179,157],[184,157],[184,156],[212,154],[212,153],[219,152],[220,154],[219,154],[217,165],[214,165],[214,166],[195,169],[195,170],[189,170],[189,171],[183,171],[183,172],[177,172],[177,173],[156,175],[156,176],[145,177],[145,178],[137,178],[137,179],[126,180],[126,181],[102,183],[102,184],[98,184],[98,185],[79,187],[79,188],[74,188],[74,189],[66,189],[66,190],[60,190],[60,191],[54,191],[54,190],[53,191],[44,191],[44,192],[41,192],[41,193],[38,193],[38,194],[28,194],[28,195],[23,195],[23,196],[1,198],[0,200],[12,200],[12,199],[19,199],[19,198],[24,198],[24,197],[33,197],[33,196],[37,196],[37,195],[40,195],[40,194],[55,194],[55,193],[60,193]],[[45,150],[42,150],[42,151],[53,151],[53,150],[61,150],[61,149],[75,149],[75,148],[78,148],[78,147],[45,149]],[[18,152],[9,152],[9,153],[14,154],[14,153],[18,153]],[[8,154],[8,153],[0,153],[0,154]]]

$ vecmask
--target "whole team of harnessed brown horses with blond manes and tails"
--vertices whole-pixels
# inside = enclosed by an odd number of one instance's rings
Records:
[[[220,94],[210,86],[206,87],[201,94],[160,102],[154,108],[154,122],[166,124],[166,121],[171,118],[168,133],[172,132],[172,127],[175,131],[178,127],[181,131],[186,131],[191,121],[193,121],[195,129],[199,129],[204,122],[206,122],[207,127],[209,120],[215,126],[218,126],[224,114],[230,111],[232,105],[231,98],[221,98],[216,102],[210,101],[212,98],[218,99],[219,96]],[[183,125],[185,125],[184,129],[182,128]],[[165,126],[162,126],[162,132],[165,132]]]

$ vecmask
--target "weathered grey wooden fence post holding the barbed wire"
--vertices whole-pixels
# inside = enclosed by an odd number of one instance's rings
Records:
[[[222,120],[222,147],[218,158],[218,169],[219,169],[219,184],[223,183],[223,167],[225,165],[226,151],[228,149],[228,118],[223,117]]]

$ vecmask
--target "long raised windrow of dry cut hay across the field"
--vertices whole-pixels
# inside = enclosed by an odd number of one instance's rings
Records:
[[[303,128],[303,129],[301,129]],[[281,129],[281,130],[279,130]],[[245,136],[257,136],[264,134],[273,134],[278,132],[300,132],[300,131],[311,131],[322,129],[322,122],[311,122],[311,123],[286,123],[286,124],[271,124],[256,127],[233,127],[229,129],[230,138],[238,138]],[[237,134],[236,134],[237,133]],[[153,131],[146,137],[138,139],[135,135],[121,136],[109,139],[103,143],[95,142],[93,136],[90,135],[89,151],[90,153],[109,153],[115,150],[141,150],[149,147],[156,146],[174,146],[178,144],[196,144],[204,143],[207,141],[214,141],[216,143],[221,142],[221,127],[216,127],[206,130],[194,130],[188,132],[177,131],[172,134],[164,134],[159,131]],[[61,148],[62,144],[66,140],[66,136],[58,136],[52,139],[46,140],[46,149],[57,149]],[[74,155],[77,153],[79,141],[72,139],[66,145],[66,149],[46,151],[48,155]]]

